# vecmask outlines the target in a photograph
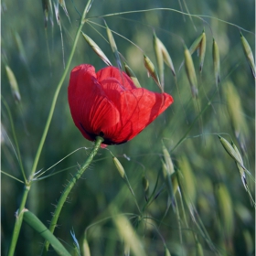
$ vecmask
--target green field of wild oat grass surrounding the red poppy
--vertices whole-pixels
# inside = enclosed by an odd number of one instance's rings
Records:
[[[252,0],[2,1],[2,255],[254,255],[254,10]],[[174,103],[133,140],[100,148],[70,185],[94,143],[73,123],[69,73],[107,67],[80,30]],[[154,35],[167,51],[158,58]]]

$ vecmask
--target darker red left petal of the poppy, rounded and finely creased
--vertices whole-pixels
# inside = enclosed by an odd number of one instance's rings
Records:
[[[89,69],[90,72],[87,67],[72,70],[69,80],[72,118],[80,132],[90,140],[97,135],[103,136],[105,129],[120,121],[118,110],[102,91],[93,69]]]

